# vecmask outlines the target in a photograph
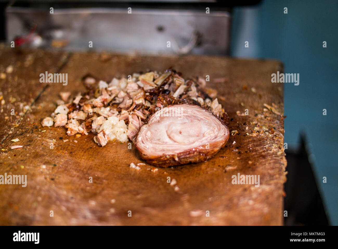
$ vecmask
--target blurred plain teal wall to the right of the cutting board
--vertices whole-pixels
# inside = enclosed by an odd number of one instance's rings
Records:
[[[338,225],[338,1],[262,1],[236,7],[231,42],[234,57],[278,59],[285,73],[299,73],[298,86],[284,83],[285,142],[289,149],[297,148],[300,133],[306,134],[328,218]]]

